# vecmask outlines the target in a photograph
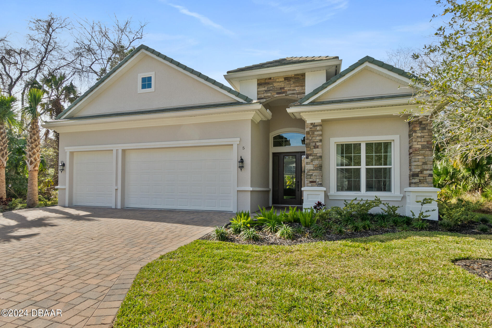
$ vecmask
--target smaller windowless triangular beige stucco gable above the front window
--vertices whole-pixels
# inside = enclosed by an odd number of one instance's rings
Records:
[[[404,85],[376,74],[369,69],[362,69],[337,87],[322,94],[316,101],[412,92],[412,89],[404,87]]]

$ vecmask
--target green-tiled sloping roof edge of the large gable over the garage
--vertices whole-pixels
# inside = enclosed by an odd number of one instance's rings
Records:
[[[238,91],[232,89],[232,88],[229,88],[225,85],[223,85],[222,83],[218,82],[218,81],[215,81],[214,79],[208,77],[207,75],[204,75],[202,73],[200,73],[199,71],[196,71],[182,63],[180,63],[179,61],[176,61],[170,57],[167,57],[161,53],[159,53],[158,51],[150,48],[150,47],[147,47],[146,45],[144,44],[141,44],[140,46],[138,46],[135,50],[133,50],[128,56],[126,56],[122,61],[120,61],[120,63],[118,65],[116,65],[113,69],[111,69],[108,73],[106,73],[106,75],[104,75],[99,81],[97,81],[91,88],[89,88],[86,92],[84,92],[80,97],[77,98],[77,100],[75,100],[73,103],[70,104],[70,106],[68,106],[62,113],[60,113],[60,115],[58,115],[55,119],[61,119],[65,114],[67,114],[74,106],[76,106],[78,103],[80,103],[85,97],[87,97],[93,90],[97,89],[102,83],[104,83],[114,72],[116,72],[120,67],[122,67],[128,60],[130,60],[133,56],[135,56],[140,50],[145,50],[151,54],[153,54],[154,56],[162,59],[162,60],[166,60],[168,62],[170,62],[171,64],[174,64],[176,65],[177,67],[183,69],[184,71],[186,72],[189,72],[193,75],[196,75],[198,78],[204,80],[205,82],[207,83],[210,83],[220,89],[223,89],[225,91],[227,91],[228,93],[236,96],[237,98],[240,98],[242,100],[244,100],[245,102],[251,102],[253,101],[253,99],[249,98],[248,96],[242,94],[242,93],[239,93]]]

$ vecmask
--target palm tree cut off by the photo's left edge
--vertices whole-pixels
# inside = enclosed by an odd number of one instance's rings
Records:
[[[0,199],[7,198],[5,190],[5,167],[10,152],[8,151],[7,127],[19,126],[17,114],[14,111],[17,98],[0,95]]]

